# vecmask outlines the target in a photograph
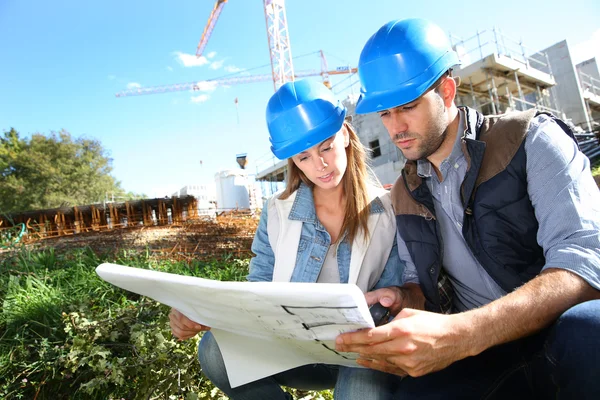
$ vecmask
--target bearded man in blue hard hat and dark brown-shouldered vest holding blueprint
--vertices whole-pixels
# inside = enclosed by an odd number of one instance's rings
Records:
[[[337,338],[398,399],[600,398],[600,193],[565,124],[454,103],[444,32],[393,21],[360,56],[358,113],[407,158],[392,188],[404,285],[387,325]],[[409,377],[408,377],[409,376]]]

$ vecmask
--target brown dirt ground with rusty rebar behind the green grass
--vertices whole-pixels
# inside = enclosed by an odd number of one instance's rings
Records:
[[[139,226],[73,235],[28,240],[0,250],[2,258],[18,249],[67,252],[91,248],[97,254],[116,254],[123,250],[149,251],[156,258],[202,260],[215,257],[251,256],[250,246],[259,216],[249,212],[230,212],[216,218],[194,218],[184,223],[163,226]]]

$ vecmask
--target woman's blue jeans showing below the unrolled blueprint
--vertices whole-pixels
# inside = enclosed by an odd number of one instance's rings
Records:
[[[231,388],[221,351],[210,332],[204,334],[198,345],[198,360],[208,379],[233,400],[291,399],[281,386],[301,390],[324,390],[335,386],[335,398],[339,400],[388,400],[393,398],[395,387],[393,375],[363,368],[312,364]]]

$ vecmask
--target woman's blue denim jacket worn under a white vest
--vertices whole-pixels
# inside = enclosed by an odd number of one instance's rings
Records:
[[[278,195],[274,196],[277,197]],[[269,200],[272,201],[273,199]],[[268,234],[268,206],[262,211],[261,219],[252,243],[252,252],[256,256],[250,262],[250,274],[248,280],[252,282],[273,280],[273,269],[275,265],[275,255]],[[379,198],[375,198],[370,204],[370,212],[384,213],[384,205]],[[384,214],[384,215],[387,215]],[[392,213],[393,215],[393,213]],[[290,220],[302,221],[302,233],[300,243],[295,256],[295,268],[290,279],[291,282],[316,282],[321,272],[325,255],[331,243],[331,237],[325,227],[319,222],[315,210],[312,190],[305,184],[301,184],[296,192],[294,203],[289,214]],[[377,229],[377,227],[375,228]],[[281,234],[281,232],[278,232]],[[393,233],[392,233],[393,235]],[[374,287],[362,288],[363,290],[372,290],[387,286],[400,286],[404,263],[400,261],[395,239],[389,252],[389,257],[383,272],[375,277]],[[352,246],[347,239],[343,239],[337,245],[336,257],[338,262],[340,282],[348,283],[350,259],[352,256]],[[372,268],[377,271],[377,266],[361,266],[362,268]],[[380,270],[380,269],[379,269]],[[378,278],[378,279],[377,279]]]

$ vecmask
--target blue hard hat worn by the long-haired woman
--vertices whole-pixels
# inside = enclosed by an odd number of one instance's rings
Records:
[[[346,107],[319,82],[287,82],[269,99],[267,127],[271,151],[280,160],[310,149],[335,135]]]

